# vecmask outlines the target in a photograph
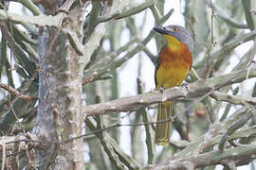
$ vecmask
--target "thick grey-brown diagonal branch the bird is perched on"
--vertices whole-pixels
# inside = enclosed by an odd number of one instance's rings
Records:
[[[189,91],[182,87],[174,87],[164,91],[143,93],[131,97],[123,97],[117,100],[112,100],[105,103],[88,105],[83,107],[84,118],[101,113],[110,113],[115,111],[130,111],[137,110],[141,107],[147,107],[151,104],[166,101],[169,99],[177,99],[181,97],[199,97],[205,93],[209,93],[227,85],[242,82],[247,78],[248,70],[241,70],[233,73],[229,73],[223,76],[214,76],[208,79],[200,79],[189,86]],[[249,77],[256,76],[256,68],[249,70]]]

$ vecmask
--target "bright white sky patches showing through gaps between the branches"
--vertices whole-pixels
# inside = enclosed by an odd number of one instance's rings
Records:
[[[138,2],[141,2],[141,0],[139,0]],[[181,11],[183,10],[183,3],[184,1],[180,1],[180,0],[172,0],[172,4],[170,3],[170,6],[165,8],[165,13],[167,13],[171,8],[174,8],[174,14],[170,17],[170,19],[164,24],[164,26],[168,26],[168,25],[180,25],[180,26],[184,26],[184,19],[182,17],[182,13]],[[13,11],[13,9],[15,9],[16,13],[21,13],[21,6],[18,3],[10,3],[10,10]],[[140,26],[141,21],[143,18],[143,12],[137,14],[136,16],[136,22],[137,25]],[[148,33],[152,30],[152,28],[155,26],[155,20],[154,17],[151,13],[150,10],[148,10],[148,18],[147,18],[147,22],[145,23],[145,29],[143,31],[142,35],[138,35],[140,36],[141,39],[145,38]],[[125,44],[126,42],[129,41],[129,33],[128,31],[124,31],[122,33],[121,36],[122,39],[122,44]],[[243,56],[243,54],[247,51],[247,49],[250,48],[250,46],[252,45],[252,42],[247,42],[243,45],[240,45],[239,47],[236,48],[235,52],[237,53],[238,56]],[[107,48],[108,44],[104,44],[103,45],[105,48]],[[155,47],[155,41],[154,39],[149,42],[147,44],[147,46],[149,47],[149,49],[156,55],[157,51],[156,51],[156,47]],[[155,73],[155,67],[153,65],[153,63],[151,62],[150,59],[148,59],[148,57],[146,57],[144,55],[144,53],[141,53],[141,58],[142,58],[142,75],[141,75],[141,79],[145,84],[145,91],[149,92],[155,89],[155,82],[154,82],[154,73]],[[233,60],[233,65],[236,64],[239,59],[238,58],[234,58]],[[119,95],[120,96],[129,96],[129,95],[135,95],[137,94],[137,63],[138,63],[138,55],[136,55],[133,59],[130,59],[127,63],[123,64],[120,69],[118,70],[119,73],[119,83],[121,84],[121,87],[119,89]],[[227,68],[227,73],[229,73],[231,70],[231,67]],[[5,82],[7,83],[7,79],[2,78],[1,82]],[[251,82],[255,82],[255,78],[244,83],[243,87],[246,89],[246,91],[250,91],[251,89]],[[19,86],[20,82],[16,79],[14,80],[14,83],[16,86]],[[129,123],[127,118],[124,118],[122,120],[122,123]],[[129,155],[131,155],[131,148],[130,146],[130,139],[126,138],[126,134],[129,134],[129,130],[130,127],[120,127],[120,129],[122,130],[122,136],[121,136],[121,140],[120,140],[120,145],[123,148],[123,150],[128,153]],[[142,134],[142,138],[145,138],[145,134]],[[172,136],[173,139],[177,139],[177,135]],[[85,151],[88,150],[87,147],[85,147]],[[145,148],[146,150],[146,148]],[[161,147],[157,148],[157,151],[160,151]],[[146,154],[145,154],[146,155]],[[85,156],[87,155],[87,152],[85,152]],[[87,157],[88,159],[88,157]],[[86,159],[86,160],[87,160]],[[217,169],[222,169],[221,165],[218,165]],[[250,169],[249,166],[241,166],[238,168],[238,170],[247,170]]]

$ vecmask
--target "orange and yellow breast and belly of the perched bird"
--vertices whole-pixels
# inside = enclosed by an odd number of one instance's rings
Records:
[[[178,86],[188,76],[192,66],[192,53],[185,44],[177,50],[164,46],[160,53],[160,65],[156,71],[158,90],[160,87]]]

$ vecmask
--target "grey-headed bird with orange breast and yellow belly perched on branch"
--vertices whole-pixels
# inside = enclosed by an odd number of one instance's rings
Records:
[[[155,88],[165,89],[179,86],[192,67],[193,38],[182,26],[155,26],[154,30],[165,37],[164,45],[155,63]],[[155,144],[167,146],[170,143],[171,121],[174,102],[167,100],[158,104],[155,129]]]

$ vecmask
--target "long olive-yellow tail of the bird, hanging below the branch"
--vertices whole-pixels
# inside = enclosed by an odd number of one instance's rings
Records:
[[[157,122],[170,120],[173,113],[173,102],[166,101],[159,103]],[[164,123],[157,123],[155,130],[155,144],[166,146],[169,144],[171,134],[171,121]]]

